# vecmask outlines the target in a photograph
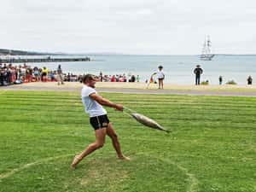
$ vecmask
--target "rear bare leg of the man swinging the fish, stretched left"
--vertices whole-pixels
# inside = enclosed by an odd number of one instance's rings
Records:
[[[102,129],[96,130],[95,131],[96,142],[91,143],[90,145],[88,145],[87,148],[85,148],[84,151],[82,151],[81,154],[78,154],[75,156],[75,158],[73,159],[73,163],[71,164],[71,168],[74,169],[75,166],[77,166],[79,164],[79,162],[81,160],[83,160],[84,157],[86,157],[88,154],[91,154],[98,148],[102,148],[105,143],[106,133],[107,133],[107,128],[102,128]]]

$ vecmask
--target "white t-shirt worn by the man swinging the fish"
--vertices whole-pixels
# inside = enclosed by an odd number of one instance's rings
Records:
[[[100,116],[103,114],[107,114],[107,111],[105,110],[105,108],[102,107],[101,104],[99,104],[98,102],[96,102],[94,99],[90,98],[90,94],[92,93],[96,93],[96,90],[84,85],[82,91],[81,91],[81,98],[82,98],[82,102],[84,104],[84,111],[85,113],[89,113],[90,117],[96,117],[96,116]]]

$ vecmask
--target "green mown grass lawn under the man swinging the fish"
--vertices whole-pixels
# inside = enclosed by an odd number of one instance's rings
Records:
[[[108,109],[125,155],[94,142],[79,93],[0,91],[0,191],[256,191],[256,97],[107,94],[157,120],[148,129]]]

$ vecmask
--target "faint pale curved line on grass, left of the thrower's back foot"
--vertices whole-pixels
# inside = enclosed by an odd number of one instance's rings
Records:
[[[37,160],[37,161],[34,161],[32,163],[28,163],[28,164],[25,164],[23,166],[20,166],[18,168],[15,168],[15,169],[12,169],[10,172],[6,172],[6,173],[3,173],[3,174],[0,174],[0,180],[3,179],[3,178],[7,178],[7,177],[10,177],[12,175],[14,175],[16,172],[20,172],[22,171],[23,169],[26,169],[30,166],[35,166],[35,165],[39,165],[39,164],[42,164],[44,162],[47,162],[49,160],[55,160],[55,159],[59,159],[61,157],[67,157],[67,156],[72,156],[74,154],[62,154],[60,156],[55,156],[55,157],[49,157],[49,158],[45,158],[45,159],[40,159],[40,160]]]

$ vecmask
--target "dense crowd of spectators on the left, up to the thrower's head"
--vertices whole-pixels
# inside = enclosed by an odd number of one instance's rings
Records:
[[[79,81],[79,76],[73,73],[63,73],[62,75],[64,81]],[[57,81],[57,69],[56,71],[50,71],[46,67],[31,67],[26,65],[26,63],[19,66],[0,63],[0,86],[37,81]]]

